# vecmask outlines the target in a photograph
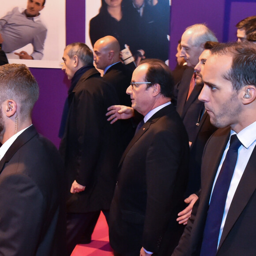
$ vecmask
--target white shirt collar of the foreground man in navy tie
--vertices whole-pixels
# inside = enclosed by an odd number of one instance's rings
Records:
[[[237,138],[241,141],[244,147],[250,147],[256,140],[256,122],[248,125],[238,133],[231,130],[230,136],[233,134],[237,134]]]

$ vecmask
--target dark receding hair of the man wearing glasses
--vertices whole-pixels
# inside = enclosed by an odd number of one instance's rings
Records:
[[[145,82],[151,82],[151,84],[147,84],[147,87],[158,83],[161,87],[161,94],[166,98],[172,98],[174,80],[169,67],[162,60],[158,59],[146,59],[141,61],[140,64],[143,63],[148,63],[149,65],[145,75]]]

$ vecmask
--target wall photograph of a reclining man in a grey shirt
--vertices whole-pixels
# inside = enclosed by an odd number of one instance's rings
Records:
[[[9,63],[23,63],[34,68],[60,68],[66,45],[65,0],[0,0],[2,49]],[[39,4],[38,4],[39,3]],[[34,4],[34,5],[33,5]],[[27,9],[27,15],[24,11]],[[39,15],[33,16],[35,13]],[[32,56],[20,59],[15,53]]]

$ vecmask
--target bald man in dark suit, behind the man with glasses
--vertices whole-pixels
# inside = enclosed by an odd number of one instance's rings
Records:
[[[131,106],[131,99],[126,89],[132,80],[132,71],[120,62],[120,45],[116,38],[106,36],[94,44],[94,62],[98,69],[104,71],[103,79],[113,85],[117,91],[120,105]],[[131,120],[120,120],[124,148],[131,141],[135,128]]]

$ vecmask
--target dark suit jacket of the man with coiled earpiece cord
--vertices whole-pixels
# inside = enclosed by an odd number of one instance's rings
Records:
[[[66,255],[65,189],[58,151],[30,126],[0,161],[1,255]]]

